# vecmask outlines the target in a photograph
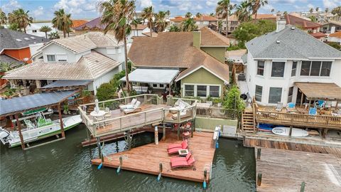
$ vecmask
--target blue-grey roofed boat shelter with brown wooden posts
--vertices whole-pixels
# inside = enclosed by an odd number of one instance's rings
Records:
[[[61,102],[67,100],[68,97],[75,95],[77,91],[56,91],[56,92],[41,92],[34,95],[28,95],[24,97],[14,97],[9,100],[0,100],[0,117],[10,117],[13,116],[16,119],[16,124],[18,126],[19,137],[21,140],[21,148],[25,149],[25,144],[23,142],[23,134],[21,133],[21,123],[18,114],[27,112],[30,110],[37,110],[42,107],[58,107],[58,115],[60,122],[62,121],[62,113],[60,110]],[[60,130],[62,137],[65,137],[64,125],[60,123]]]

